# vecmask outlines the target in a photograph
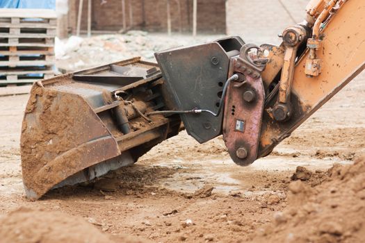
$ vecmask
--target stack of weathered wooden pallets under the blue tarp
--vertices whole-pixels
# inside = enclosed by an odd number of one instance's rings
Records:
[[[56,12],[0,9],[0,86],[54,75]]]

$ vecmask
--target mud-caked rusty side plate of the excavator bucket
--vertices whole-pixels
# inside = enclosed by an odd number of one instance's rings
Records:
[[[38,199],[68,176],[119,155],[115,140],[105,148],[88,144],[102,137],[111,138],[111,133],[81,97],[33,87],[20,141],[28,196]],[[100,156],[92,153],[97,148],[101,149]]]

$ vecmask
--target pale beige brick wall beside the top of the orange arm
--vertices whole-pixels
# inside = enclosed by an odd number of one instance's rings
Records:
[[[227,34],[246,42],[277,44],[277,34],[302,22],[309,0],[227,0]],[[286,12],[286,10],[288,12]]]

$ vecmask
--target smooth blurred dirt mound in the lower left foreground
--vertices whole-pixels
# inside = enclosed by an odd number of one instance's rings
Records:
[[[0,220],[1,242],[130,242],[130,237],[111,237],[81,217],[62,212],[19,208]]]

